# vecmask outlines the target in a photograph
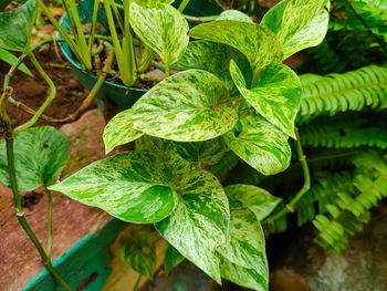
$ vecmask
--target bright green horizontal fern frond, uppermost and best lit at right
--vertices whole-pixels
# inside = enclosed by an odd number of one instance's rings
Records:
[[[299,122],[321,114],[387,107],[387,67],[369,65],[344,74],[301,75]]]

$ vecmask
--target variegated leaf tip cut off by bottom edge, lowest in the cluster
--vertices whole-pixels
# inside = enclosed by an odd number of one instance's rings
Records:
[[[250,288],[257,291],[268,291],[268,277],[262,276],[264,271],[261,269],[248,269],[231,261],[227,260],[223,257],[220,257],[220,272],[222,278],[234,282],[236,284]]]

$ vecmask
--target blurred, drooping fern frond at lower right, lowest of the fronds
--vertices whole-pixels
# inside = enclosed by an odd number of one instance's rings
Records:
[[[320,230],[316,242],[334,252],[339,252],[348,237],[360,231],[370,218],[369,209],[387,196],[387,163],[380,155],[370,152],[354,159],[357,167],[353,185],[358,194],[353,197],[339,193],[334,205],[326,207],[331,218],[317,215],[313,221]]]

